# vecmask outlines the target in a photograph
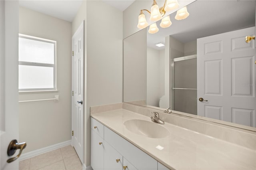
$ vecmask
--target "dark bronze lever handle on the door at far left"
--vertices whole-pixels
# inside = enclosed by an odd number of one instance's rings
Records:
[[[18,159],[18,157],[20,157],[21,152],[24,148],[26,148],[27,144],[26,142],[22,142],[22,143],[18,143],[18,141],[16,139],[12,140],[8,146],[7,149],[7,155],[8,156],[12,156],[15,154],[16,150],[20,149],[20,152],[17,156],[10,158],[7,160],[8,163],[13,162],[14,160]]]

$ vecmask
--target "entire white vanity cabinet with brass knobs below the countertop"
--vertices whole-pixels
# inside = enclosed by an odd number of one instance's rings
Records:
[[[91,166],[94,170],[168,170],[93,118],[91,118]]]

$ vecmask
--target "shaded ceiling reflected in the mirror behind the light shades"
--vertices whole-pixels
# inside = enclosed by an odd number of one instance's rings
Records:
[[[186,43],[255,26],[255,0],[197,0],[189,4],[187,9],[190,15],[184,20],[175,20],[176,12],[170,15],[172,25],[169,28],[161,28],[161,21],[158,21],[159,32],[147,34],[147,45],[154,49],[164,49],[155,44],[164,42],[169,35]]]

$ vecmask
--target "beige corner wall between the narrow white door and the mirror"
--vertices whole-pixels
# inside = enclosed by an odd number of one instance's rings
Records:
[[[86,23],[84,48],[87,72],[84,163],[89,166],[90,106],[122,102],[122,11],[103,1],[87,0],[72,22],[72,34],[82,20]]]

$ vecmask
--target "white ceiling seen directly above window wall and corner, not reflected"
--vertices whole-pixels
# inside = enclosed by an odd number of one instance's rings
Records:
[[[124,11],[134,0],[103,0]],[[83,0],[20,0],[20,6],[72,22]]]

